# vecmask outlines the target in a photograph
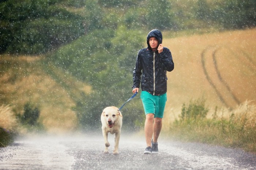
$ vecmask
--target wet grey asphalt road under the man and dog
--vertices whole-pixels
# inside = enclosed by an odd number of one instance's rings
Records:
[[[256,169],[256,155],[238,149],[159,139],[159,154],[144,155],[143,137],[121,134],[113,155],[114,135],[109,139],[109,154],[101,134],[19,139],[0,148],[0,169]]]

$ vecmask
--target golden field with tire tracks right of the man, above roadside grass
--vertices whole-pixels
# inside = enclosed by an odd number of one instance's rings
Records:
[[[198,98],[210,108],[256,104],[255,39],[256,29],[163,39],[174,60],[166,114],[177,117],[183,103]]]

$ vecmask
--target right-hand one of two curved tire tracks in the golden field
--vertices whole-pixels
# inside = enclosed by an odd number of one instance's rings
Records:
[[[232,98],[235,100],[235,102],[237,104],[240,104],[240,100],[234,95],[234,93],[231,91],[231,88],[229,87],[229,84],[227,84],[227,82],[222,78],[221,76],[221,72],[218,69],[218,64],[217,64],[217,59],[216,59],[216,52],[220,50],[220,48],[217,48],[214,50],[214,52],[212,53],[212,59],[213,59],[213,63],[214,63],[214,67],[215,67],[215,71],[218,75],[219,80],[223,83],[223,85],[227,88],[227,90],[230,92],[230,95],[232,96]]]

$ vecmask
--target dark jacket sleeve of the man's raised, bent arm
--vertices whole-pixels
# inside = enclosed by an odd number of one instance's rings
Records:
[[[163,52],[160,54],[160,62],[164,65],[165,69],[167,71],[173,71],[174,69],[174,63],[172,58],[172,53],[170,50],[166,47],[163,48]]]

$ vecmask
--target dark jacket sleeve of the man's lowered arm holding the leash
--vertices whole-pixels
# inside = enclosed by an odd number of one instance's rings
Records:
[[[140,58],[140,51],[138,52],[137,58],[136,58],[136,64],[135,68],[133,69],[133,88],[139,88],[140,87],[140,80],[142,75],[142,63]]]

